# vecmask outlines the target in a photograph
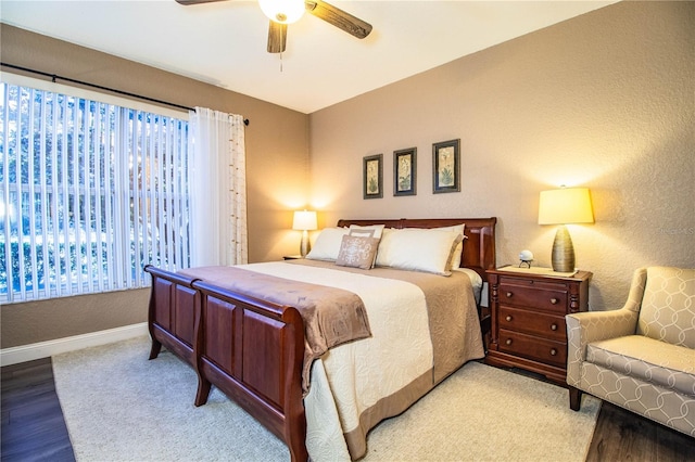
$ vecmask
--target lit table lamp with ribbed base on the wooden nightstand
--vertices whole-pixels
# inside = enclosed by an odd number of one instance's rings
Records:
[[[553,241],[553,271],[574,271],[574,246],[565,224],[593,222],[589,188],[541,191],[539,224],[560,224]]]

